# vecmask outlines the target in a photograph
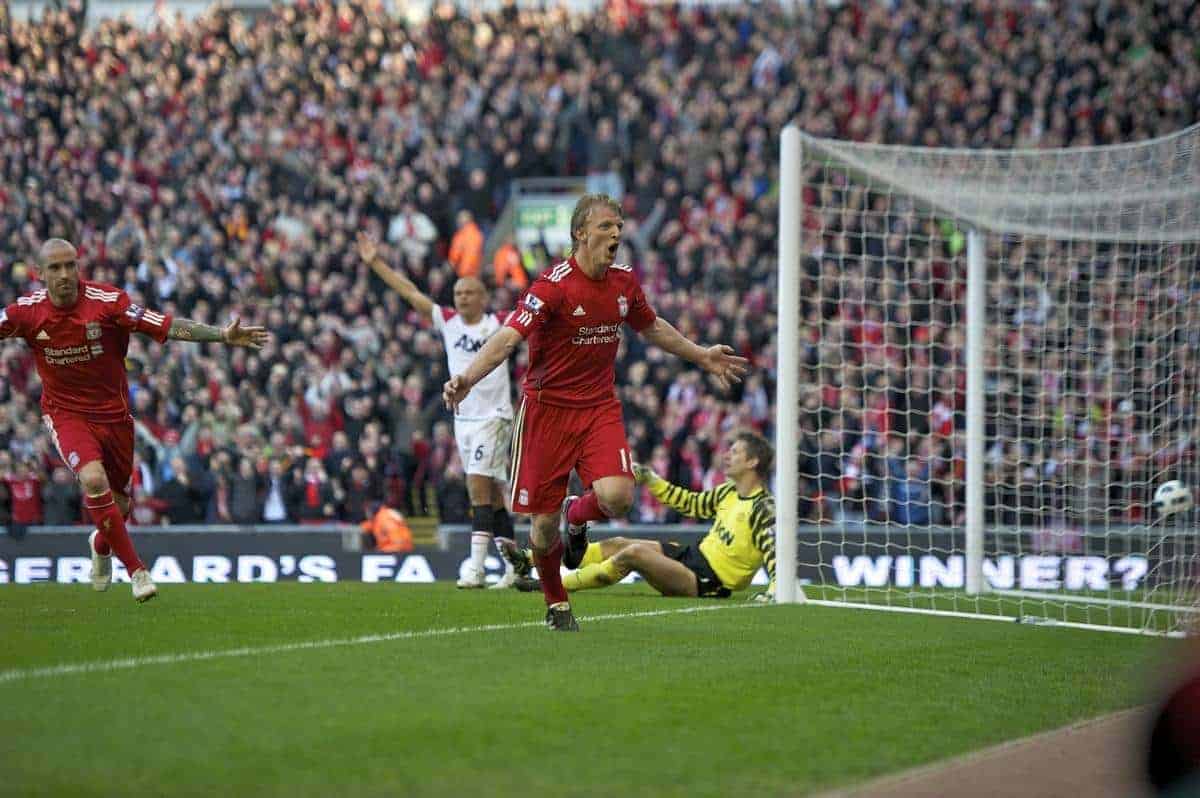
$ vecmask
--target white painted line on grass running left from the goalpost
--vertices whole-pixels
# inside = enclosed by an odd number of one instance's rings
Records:
[[[767,605],[745,602],[708,605],[700,607],[682,607],[678,610],[647,610],[646,612],[612,612],[604,616],[581,617],[580,620],[592,623],[596,620],[624,620],[626,618],[654,618],[656,616],[682,616],[695,612],[714,612],[718,610],[742,610],[762,607]],[[120,660],[98,660],[95,662],[71,662],[66,665],[52,665],[48,667],[13,668],[0,671],[0,684],[20,682],[25,679],[41,679],[53,676],[76,676],[78,673],[107,673],[109,671],[126,671],[146,665],[176,665],[179,662],[203,662],[205,660],[227,659],[232,656],[260,656],[264,654],[286,654],[289,652],[307,652],[320,648],[336,648],[338,646],[367,646],[370,643],[389,643],[398,640],[418,640],[420,637],[449,637],[451,635],[466,635],[469,632],[486,631],[510,631],[514,629],[529,629],[541,626],[540,620],[527,620],[518,624],[486,624],[482,626],[448,626],[445,629],[419,629],[414,631],[394,631],[382,635],[362,635],[360,637],[335,637],[330,640],[310,640],[300,643],[278,643],[276,646],[254,646],[244,648],[227,648],[216,652],[184,652],[181,654],[157,654],[155,656],[131,656]]]

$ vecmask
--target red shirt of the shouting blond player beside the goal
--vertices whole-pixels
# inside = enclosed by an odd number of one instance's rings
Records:
[[[566,407],[614,400],[620,325],[641,331],[656,318],[631,266],[613,264],[600,280],[575,258],[547,269],[505,322],[529,342],[526,395]]]

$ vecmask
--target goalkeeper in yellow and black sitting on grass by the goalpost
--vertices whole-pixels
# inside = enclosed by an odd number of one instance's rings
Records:
[[[655,540],[610,538],[588,544],[578,570],[563,577],[568,590],[616,584],[630,572],[641,575],[662,595],[726,598],[742,590],[764,564],[775,593],[775,499],[767,491],[775,452],[767,439],[739,432],[725,452],[728,481],[703,492],[672,485],[649,468],[634,464],[634,476],[662,504],[692,518],[713,518],[698,546]],[[496,539],[500,552],[520,575],[529,572],[529,554],[506,539]]]

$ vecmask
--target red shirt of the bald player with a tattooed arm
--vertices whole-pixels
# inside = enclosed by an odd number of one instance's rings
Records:
[[[169,329],[169,314],[132,305],[124,290],[86,280],[79,281],[71,307],[54,307],[46,290],[36,290],[0,311],[0,338],[24,338],[34,350],[42,412],[101,422],[131,418],[125,377],[130,332],[162,343]]]

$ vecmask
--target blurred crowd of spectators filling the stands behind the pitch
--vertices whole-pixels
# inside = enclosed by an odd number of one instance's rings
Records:
[[[623,344],[632,448],[701,487],[720,476],[725,432],[773,432],[785,122],[865,142],[1052,148],[1145,139],[1200,114],[1186,34],[1200,6],[1184,0],[438,6],[412,26],[348,1],[149,28],[82,18],[80,0],[35,23],[0,18],[0,302],[36,287],[30,260],[56,235],[77,244],[85,275],[139,304],[274,334],[260,353],[133,341],[143,522],[356,522],[382,502],[462,520],[443,353],[358,260],[359,229],[437,301],[451,302],[456,274],[478,272],[503,311],[527,276],[499,259],[493,271],[484,241],[510,180],[619,174],[618,259],[684,335],[733,342],[756,366],[726,396],[636,336]],[[886,198],[839,202],[836,220],[805,227],[804,516],[958,521],[961,250],[932,226],[905,235]],[[1196,395],[1200,344],[1172,337],[1200,326],[1195,250],[1169,284],[1146,287],[1183,292],[1174,301],[1190,316],[1134,332],[1138,304],[1114,292],[1142,287],[1145,253],[996,246],[1013,276],[1050,286],[1026,296],[1014,278],[990,298],[991,332],[1026,359],[990,368],[996,517],[1066,506],[1043,493],[1080,474],[1120,486],[1169,466],[1145,424]],[[533,271],[551,257],[520,254]],[[1021,347],[1034,328],[1040,343]],[[1166,377],[1180,383],[1170,396]],[[0,523],[80,517],[37,398],[29,352],[0,346]],[[1194,462],[1200,414],[1183,404],[1164,427],[1168,460]],[[1129,498],[1117,488],[1088,506],[1114,516]],[[632,517],[667,518],[648,497]]]

